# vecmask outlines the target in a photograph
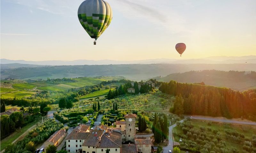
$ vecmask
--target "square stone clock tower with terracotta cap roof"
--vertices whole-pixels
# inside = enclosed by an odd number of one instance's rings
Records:
[[[127,114],[125,117],[125,141],[134,142],[136,114]]]

